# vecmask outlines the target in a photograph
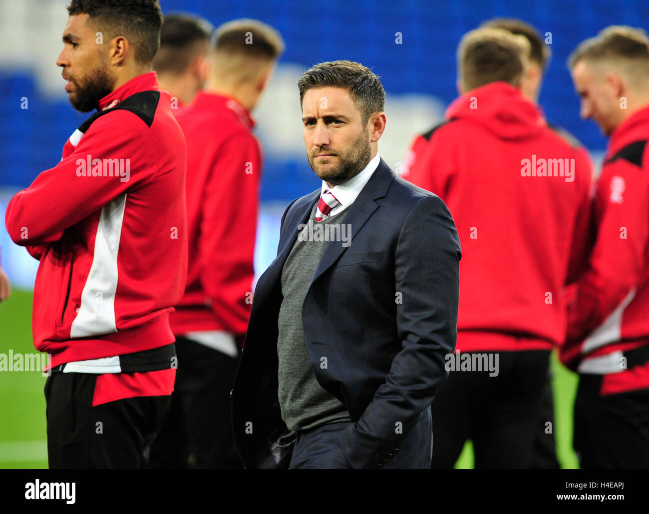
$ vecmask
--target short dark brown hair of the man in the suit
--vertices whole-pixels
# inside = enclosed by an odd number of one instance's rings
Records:
[[[349,91],[356,108],[361,112],[363,123],[375,112],[386,108],[386,92],[378,75],[359,62],[337,60],[321,62],[302,73],[297,81],[300,105],[304,93],[313,88],[343,88]]]

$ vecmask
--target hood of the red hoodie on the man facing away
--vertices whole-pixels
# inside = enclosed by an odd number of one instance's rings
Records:
[[[471,120],[504,140],[530,138],[546,126],[537,106],[520,90],[500,81],[464,93],[448,106],[446,117]]]

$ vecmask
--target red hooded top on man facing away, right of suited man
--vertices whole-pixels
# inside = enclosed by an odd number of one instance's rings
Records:
[[[465,93],[446,117],[415,138],[403,177],[441,197],[458,227],[456,348],[550,349],[587,252],[590,164],[506,82]]]

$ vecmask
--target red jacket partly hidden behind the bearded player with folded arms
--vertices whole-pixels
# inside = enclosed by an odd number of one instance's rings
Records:
[[[200,92],[177,114],[187,140],[189,268],[171,328],[178,336],[248,326],[262,157],[234,99]]]

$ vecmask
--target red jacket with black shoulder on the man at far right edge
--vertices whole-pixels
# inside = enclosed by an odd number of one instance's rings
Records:
[[[609,380],[617,386],[604,384],[610,392],[633,384],[649,387],[646,357],[643,373],[631,363],[620,366],[626,352],[649,345],[648,139],[649,106],[611,134],[594,197],[596,241],[576,283],[561,349],[561,360],[572,369],[615,373]],[[630,378],[632,371],[637,380]]]

